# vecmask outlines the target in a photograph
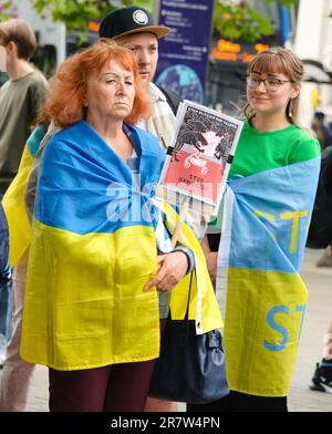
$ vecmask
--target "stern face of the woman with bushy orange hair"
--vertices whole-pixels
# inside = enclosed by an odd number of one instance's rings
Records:
[[[133,108],[135,85],[133,71],[110,61],[87,81],[84,105],[87,113],[114,121],[123,121]]]

